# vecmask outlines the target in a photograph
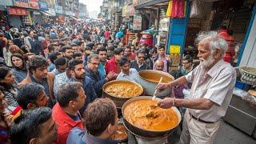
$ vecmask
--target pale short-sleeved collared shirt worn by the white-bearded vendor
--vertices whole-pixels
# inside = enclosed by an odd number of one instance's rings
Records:
[[[191,98],[206,98],[214,102],[210,110],[188,109],[190,114],[206,122],[217,122],[226,114],[236,80],[230,63],[220,60],[208,72],[199,65],[186,75],[186,80],[192,82]]]

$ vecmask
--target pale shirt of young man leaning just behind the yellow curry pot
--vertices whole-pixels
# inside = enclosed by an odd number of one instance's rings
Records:
[[[119,73],[117,79],[121,79],[121,80],[125,79],[125,80],[128,80],[128,81],[137,82],[137,83],[140,82],[138,71],[134,68],[130,68],[128,75],[124,74],[123,72]]]

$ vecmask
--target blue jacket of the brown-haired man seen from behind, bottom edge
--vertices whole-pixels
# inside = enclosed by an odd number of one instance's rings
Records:
[[[118,144],[110,139],[100,139],[90,135],[87,131],[74,127],[66,139],[67,144]]]

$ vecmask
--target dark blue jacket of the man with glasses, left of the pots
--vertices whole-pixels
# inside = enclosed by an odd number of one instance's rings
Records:
[[[92,81],[92,84],[94,86],[94,90],[98,97],[102,96],[102,87],[106,83],[105,78],[101,78],[99,72],[94,73],[92,70],[88,68],[88,66],[85,67],[86,70],[86,76],[89,77]]]

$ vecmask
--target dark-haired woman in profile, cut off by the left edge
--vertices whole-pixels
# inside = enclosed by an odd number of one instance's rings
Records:
[[[0,67],[0,86],[2,86],[2,93],[7,99],[7,106],[18,106],[16,102],[16,94],[18,91],[17,82],[15,82],[14,75],[8,67]]]

